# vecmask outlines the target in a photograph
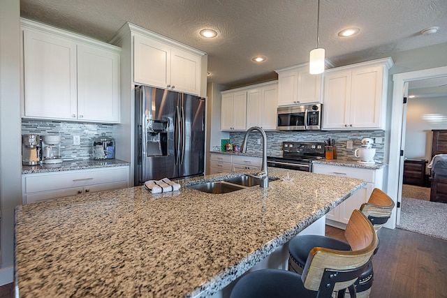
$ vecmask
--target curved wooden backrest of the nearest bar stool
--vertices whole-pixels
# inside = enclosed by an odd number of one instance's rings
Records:
[[[360,276],[377,246],[376,232],[365,215],[354,210],[346,226],[345,237],[351,245],[351,251],[312,248],[302,271],[305,288],[328,292],[330,297],[332,291],[348,288]],[[352,272],[354,275],[349,274]],[[328,278],[330,274],[332,276]]]

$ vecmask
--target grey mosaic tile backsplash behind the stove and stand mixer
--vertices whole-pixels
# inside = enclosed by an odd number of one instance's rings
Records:
[[[335,140],[337,147],[337,158],[352,159],[354,158],[355,149],[360,147],[362,137],[372,137],[373,139],[381,138],[381,144],[374,144],[376,148],[376,161],[383,163],[383,148],[385,147],[385,131],[266,131],[267,135],[267,151],[268,156],[281,156],[281,144],[285,141],[295,142],[324,142],[324,140]],[[258,139],[261,134],[253,132],[249,135],[247,144],[247,152],[254,154],[262,154],[262,145],[259,145]],[[241,145],[244,139],[244,132],[230,133],[230,142],[232,144]],[[346,141],[353,141],[353,149],[346,149]]]

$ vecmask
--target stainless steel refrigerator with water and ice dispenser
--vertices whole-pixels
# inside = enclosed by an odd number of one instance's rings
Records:
[[[203,175],[205,98],[138,86],[135,126],[135,185]]]

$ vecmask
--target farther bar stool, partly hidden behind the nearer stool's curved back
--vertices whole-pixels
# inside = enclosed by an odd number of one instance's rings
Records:
[[[394,208],[394,202],[391,198],[383,193],[379,188],[374,188],[372,191],[368,202],[362,204],[360,210],[365,216],[371,221],[374,226],[374,230],[379,230],[388,218],[390,218],[391,212]],[[346,231],[344,232],[346,237]],[[348,239],[346,237],[346,239]],[[349,239],[348,239],[349,241]],[[349,241],[349,244],[351,242]],[[351,245],[346,244],[344,241],[339,241],[330,237],[320,236],[320,235],[302,235],[297,236],[290,241],[288,244],[288,270],[297,273],[302,273],[305,267],[309,252],[314,247],[325,247],[330,249],[337,249],[340,251],[350,251]],[[374,254],[379,248],[379,239],[377,242]],[[374,280],[374,271],[372,267],[372,262],[369,262],[365,271],[362,272],[360,278],[355,283],[356,291],[358,293],[357,297],[369,297],[369,292],[371,292],[372,281]]]

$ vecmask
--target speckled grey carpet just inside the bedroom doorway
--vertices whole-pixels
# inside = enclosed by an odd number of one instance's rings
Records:
[[[397,228],[447,240],[447,204],[402,197]]]

